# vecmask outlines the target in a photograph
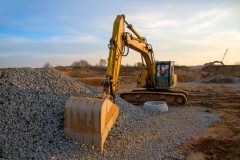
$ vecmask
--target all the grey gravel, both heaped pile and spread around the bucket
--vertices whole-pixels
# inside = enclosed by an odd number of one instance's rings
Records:
[[[21,68],[0,73],[0,158],[6,159],[161,159],[182,158],[177,145],[218,121],[219,115],[170,107],[145,113],[121,98],[120,115],[105,150],[74,144],[63,137],[66,99],[99,96],[101,90],[54,69]]]

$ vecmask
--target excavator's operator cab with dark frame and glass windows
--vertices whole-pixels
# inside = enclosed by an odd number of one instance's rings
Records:
[[[175,86],[177,76],[174,74],[174,61],[157,61],[155,64],[156,88],[169,89]]]

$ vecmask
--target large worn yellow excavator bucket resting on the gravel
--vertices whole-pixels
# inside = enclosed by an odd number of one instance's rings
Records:
[[[64,136],[103,150],[119,108],[109,99],[70,97],[64,108]]]

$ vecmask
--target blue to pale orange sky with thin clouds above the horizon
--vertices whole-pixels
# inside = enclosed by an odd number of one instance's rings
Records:
[[[240,61],[239,0],[0,0],[0,67],[95,65],[108,57],[113,22],[125,14],[155,59],[178,65]],[[123,64],[141,61],[131,51]]]

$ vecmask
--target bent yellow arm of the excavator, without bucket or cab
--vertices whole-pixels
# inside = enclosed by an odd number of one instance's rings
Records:
[[[125,24],[132,33],[125,32]],[[125,48],[127,53],[125,54]],[[105,96],[115,98],[115,94],[119,89],[120,82],[119,71],[121,60],[123,56],[128,54],[129,48],[137,51],[143,57],[147,69],[147,82],[149,87],[154,86],[154,55],[152,46],[147,43],[146,39],[142,37],[137,30],[128,24],[124,15],[118,15],[114,21],[112,38],[109,44],[108,66],[105,80],[103,81],[103,92]]]

